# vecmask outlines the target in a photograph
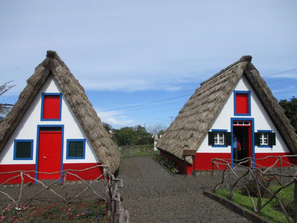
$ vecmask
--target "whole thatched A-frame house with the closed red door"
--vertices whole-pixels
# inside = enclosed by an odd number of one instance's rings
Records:
[[[0,172],[58,172],[105,164],[114,173],[119,159],[118,149],[84,88],[57,53],[47,51],[45,60],[35,68],[19,100],[0,125]],[[101,173],[102,168],[93,168],[78,175],[92,180]],[[14,175],[1,175],[0,182]],[[60,176],[34,172],[30,175],[39,180]],[[32,180],[26,177],[25,181]],[[19,182],[18,177],[8,183]]]

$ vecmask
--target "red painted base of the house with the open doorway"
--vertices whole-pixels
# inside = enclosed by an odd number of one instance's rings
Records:
[[[168,160],[172,160],[179,168],[180,173],[184,174],[184,161],[180,160],[179,158],[166,153],[164,151],[160,151],[160,155],[163,157],[166,157]],[[283,155],[291,155],[291,153],[256,153],[255,158],[260,159],[260,158],[265,158],[267,156],[283,156]],[[231,158],[231,153],[196,153],[195,156],[195,170],[211,170],[212,168],[212,162],[211,159],[230,159]],[[292,163],[297,165],[297,159],[292,158],[292,157],[284,157],[282,159],[283,161]],[[264,166],[264,167],[269,167],[272,166],[275,163],[276,159],[275,158],[267,158],[265,160],[256,160],[256,163]],[[279,167],[280,163],[278,162],[275,167]],[[289,166],[289,164],[282,163],[282,166]],[[222,168],[223,166],[221,166]],[[259,166],[258,166],[259,167]],[[192,171],[194,170],[194,164],[187,164],[187,175],[192,174]],[[214,166],[214,169],[218,169],[216,165]]]

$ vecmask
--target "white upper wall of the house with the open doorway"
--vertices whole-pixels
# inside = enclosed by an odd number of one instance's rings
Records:
[[[262,106],[252,87],[248,83],[247,79],[243,76],[234,90],[251,91],[251,116],[234,116],[234,95],[233,92],[228,98],[222,111],[215,120],[213,126],[209,129],[227,129],[231,132],[231,118],[254,118],[254,131],[257,130],[272,130],[276,133],[276,145],[272,148],[263,148],[255,146],[255,153],[288,153],[290,152],[281,138],[278,130],[273,125],[267,112]],[[253,134],[253,133],[252,133]],[[197,153],[230,153],[231,146],[228,147],[212,147],[208,145],[208,135],[205,136],[203,142],[197,150]]]

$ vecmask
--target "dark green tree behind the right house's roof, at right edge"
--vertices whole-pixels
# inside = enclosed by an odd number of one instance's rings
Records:
[[[291,125],[295,128],[297,134],[297,98],[293,96],[290,101],[282,99],[278,104],[285,110],[285,115],[290,120]]]

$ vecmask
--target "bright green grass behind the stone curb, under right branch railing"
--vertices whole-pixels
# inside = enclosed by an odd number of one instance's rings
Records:
[[[276,190],[276,189],[275,189]],[[223,198],[228,199],[228,191],[226,189],[217,190],[215,194],[222,196]],[[292,197],[291,197],[292,199]],[[254,203],[257,205],[257,198],[253,198]],[[268,198],[262,198],[262,204],[264,204],[266,201],[268,201]],[[239,204],[243,208],[246,208],[247,210],[254,212],[252,201],[249,199],[249,197],[242,195],[239,191],[233,191],[233,202]],[[276,203],[275,203],[276,202]],[[267,204],[259,213],[258,215],[262,216],[263,218],[275,222],[275,223],[286,223],[286,217],[282,212],[279,212],[274,209],[274,206],[277,206],[277,201],[272,201],[269,204]],[[293,219],[291,219],[293,222]]]

